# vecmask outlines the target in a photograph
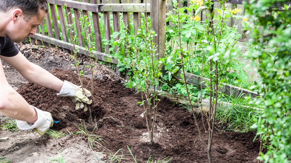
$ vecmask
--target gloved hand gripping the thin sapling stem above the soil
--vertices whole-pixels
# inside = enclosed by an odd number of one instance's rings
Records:
[[[92,100],[89,100],[88,97],[91,97],[91,93],[89,90],[84,89],[82,91],[81,86],[76,86],[75,84],[64,81],[63,87],[60,93],[56,94],[63,97],[70,97],[74,103],[76,103],[76,110],[84,109],[83,111],[88,111],[88,105],[92,104]]]

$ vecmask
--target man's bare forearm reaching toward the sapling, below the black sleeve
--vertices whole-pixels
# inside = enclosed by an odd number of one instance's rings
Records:
[[[28,61],[21,52],[14,57],[1,56],[1,59],[14,67],[25,79],[30,82],[45,88],[56,90],[58,92],[63,86],[63,81],[49,73],[47,70]]]

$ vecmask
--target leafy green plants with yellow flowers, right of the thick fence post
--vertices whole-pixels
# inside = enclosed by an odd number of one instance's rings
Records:
[[[200,7],[203,1],[190,1],[189,3],[189,8],[177,8],[177,1],[173,0],[175,8],[168,13],[168,18],[166,19],[166,21],[173,23],[173,27],[167,27],[166,31],[166,56],[161,59],[165,65],[164,80],[166,83],[162,88],[170,93],[186,96],[185,86],[180,82],[170,82],[175,78],[173,74],[178,70],[182,70],[180,51],[183,52],[186,72],[210,78],[211,75],[209,74],[213,74],[214,71],[209,71],[209,61],[213,60],[214,62],[217,61],[217,68],[221,74],[219,77],[220,83],[246,85],[244,83],[249,79],[249,76],[244,70],[245,65],[235,59],[239,53],[239,49],[235,48],[235,45],[241,35],[237,34],[237,25],[233,27],[227,26],[227,18],[233,17],[236,20],[243,18],[240,15],[241,10],[230,10],[228,5],[223,3],[221,8],[215,8],[219,12],[217,17],[214,17],[214,12],[209,14],[203,12],[207,19],[205,22],[201,22],[197,14],[205,9],[205,6]],[[188,14],[184,12],[185,10]],[[192,10],[196,12],[196,16],[192,15]],[[211,17],[213,21],[210,20]],[[178,22],[182,24],[180,28]],[[211,24],[214,28],[213,31],[209,28],[210,23],[213,23]],[[245,26],[250,26],[248,21],[243,21],[242,23]],[[178,49],[179,41],[181,41],[182,49]],[[189,87],[192,101],[196,101],[200,96],[204,98],[209,93],[207,90],[202,90],[201,95],[200,88]]]

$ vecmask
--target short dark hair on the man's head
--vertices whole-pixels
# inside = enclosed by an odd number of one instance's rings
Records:
[[[25,15],[24,20],[38,15],[38,10],[49,11],[47,0],[0,0],[0,12],[7,12],[12,8],[20,8]]]

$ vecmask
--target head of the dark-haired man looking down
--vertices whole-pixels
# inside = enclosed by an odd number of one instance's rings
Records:
[[[0,0],[0,16],[5,23],[0,36],[21,42],[30,34],[34,35],[48,10],[46,0]]]

